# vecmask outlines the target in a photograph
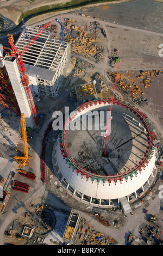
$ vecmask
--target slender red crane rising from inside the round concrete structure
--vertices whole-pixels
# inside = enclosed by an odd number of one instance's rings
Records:
[[[116,83],[117,83],[117,76],[118,76],[119,66],[120,66],[120,61],[118,62],[118,68],[117,68],[117,74],[116,74],[116,78],[115,78],[114,90],[113,90],[112,99],[111,99],[110,112],[109,112],[109,117],[108,117],[108,121],[107,121],[107,124],[106,124],[106,138],[105,138],[104,156],[107,156],[108,141],[109,141],[109,130],[110,130],[110,121],[111,121],[111,110],[112,110],[112,103],[113,103],[113,100],[114,100],[114,94],[115,94],[115,88],[116,88]]]

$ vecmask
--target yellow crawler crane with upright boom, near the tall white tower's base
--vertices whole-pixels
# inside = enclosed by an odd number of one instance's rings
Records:
[[[29,165],[29,159],[31,156],[28,156],[28,144],[27,144],[27,131],[26,131],[26,120],[25,115],[21,114],[21,122],[18,130],[18,142],[21,137],[21,130],[22,130],[22,139],[23,139],[23,147],[24,147],[24,156],[14,156],[15,161],[18,163],[18,169],[22,166]],[[16,151],[18,149],[18,143],[16,146]]]

